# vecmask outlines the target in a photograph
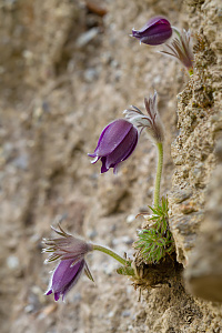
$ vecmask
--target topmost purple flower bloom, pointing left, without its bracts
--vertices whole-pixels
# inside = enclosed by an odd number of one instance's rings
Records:
[[[163,17],[150,19],[142,29],[132,29],[132,37],[140,40],[141,43],[149,46],[159,46],[164,43],[172,36],[170,22]]]

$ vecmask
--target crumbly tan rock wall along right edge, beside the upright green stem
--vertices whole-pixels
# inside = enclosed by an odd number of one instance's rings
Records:
[[[199,13],[198,18],[192,14],[192,23],[199,27],[195,73],[179,95],[181,132],[172,145],[179,167],[171,225],[178,260],[188,266],[188,287],[198,296],[221,302],[222,17],[216,1],[201,6],[190,1],[189,6],[192,13]]]

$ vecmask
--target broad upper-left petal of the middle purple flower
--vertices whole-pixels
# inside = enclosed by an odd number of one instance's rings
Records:
[[[125,119],[114,120],[102,131],[94,153],[89,155],[107,157],[123,141],[132,127]]]

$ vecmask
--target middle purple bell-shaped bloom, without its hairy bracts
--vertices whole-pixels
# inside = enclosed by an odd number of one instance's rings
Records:
[[[125,119],[117,119],[102,131],[98,145],[92,154],[91,163],[101,159],[101,173],[113,168],[117,173],[121,162],[127,160],[138,143],[138,129]]]

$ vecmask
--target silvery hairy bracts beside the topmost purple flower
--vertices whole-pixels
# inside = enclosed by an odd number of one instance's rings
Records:
[[[169,44],[165,44],[164,50],[160,51],[176,61],[181,62],[189,71],[190,75],[193,73],[193,47],[190,30],[181,32],[173,28],[178,37],[175,37]]]

